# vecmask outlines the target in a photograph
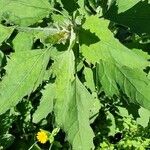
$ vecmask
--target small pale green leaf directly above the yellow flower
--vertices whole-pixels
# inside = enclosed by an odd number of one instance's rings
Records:
[[[53,84],[48,84],[42,91],[42,98],[40,104],[33,114],[33,122],[38,123],[43,118],[53,111],[53,100],[55,97],[55,90]]]

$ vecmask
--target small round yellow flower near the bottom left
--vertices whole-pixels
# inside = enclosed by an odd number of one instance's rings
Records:
[[[48,135],[44,130],[39,131],[36,138],[42,144],[45,144],[48,141]]]

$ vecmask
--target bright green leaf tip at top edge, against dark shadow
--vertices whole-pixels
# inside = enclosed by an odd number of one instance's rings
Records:
[[[118,6],[118,13],[122,13],[132,8],[141,0],[117,0],[116,4]]]

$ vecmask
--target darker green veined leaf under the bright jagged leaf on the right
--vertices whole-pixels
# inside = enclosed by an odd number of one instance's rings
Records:
[[[150,80],[139,69],[120,66],[113,61],[100,61],[97,65],[97,78],[103,90],[110,96],[123,91],[131,102],[138,103],[150,110]]]

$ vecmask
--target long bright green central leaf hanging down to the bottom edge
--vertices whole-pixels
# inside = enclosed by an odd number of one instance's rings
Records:
[[[62,53],[56,62],[56,122],[66,132],[74,150],[91,150],[94,145],[89,111],[93,98],[79,79],[74,77],[72,51]]]

